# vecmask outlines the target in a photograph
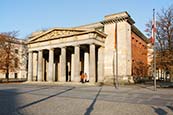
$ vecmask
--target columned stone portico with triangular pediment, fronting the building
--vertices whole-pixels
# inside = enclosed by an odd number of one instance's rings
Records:
[[[102,80],[97,64],[103,66],[99,50],[103,50],[105,37],[97,30],[55,28],[30,39],[28,80],[79,82],[81,71],[92,83]]]

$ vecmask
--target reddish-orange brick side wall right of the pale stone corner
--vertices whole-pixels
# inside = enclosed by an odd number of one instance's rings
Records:
[[[132,32],[132,75],[136,77],[147,76],[147,43]]]

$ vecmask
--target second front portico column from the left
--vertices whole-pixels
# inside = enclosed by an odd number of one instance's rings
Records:
[[[43,81],[43,51],[38,51],[38,81]]]

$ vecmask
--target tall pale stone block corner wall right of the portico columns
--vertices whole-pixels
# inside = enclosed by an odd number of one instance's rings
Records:
[[[132,66],[131,25],[126,21],[117,22],[117,25],[108,23],[104,26],[104,32],[107,34],[104,51],[104,82],[114,83],[117,70],[119,81],[128,83],[131,81]],[[117,50],[115,42],[117,42]],[[118,56],[116,56],[116,51]],[[118,66],[116,66],[116,57],[118,57]]]

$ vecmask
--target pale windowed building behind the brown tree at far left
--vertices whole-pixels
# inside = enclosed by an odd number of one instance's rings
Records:
[[[27,46],[24,40],[14,38],[8,39],[8,35],[1,34],[1,43],[10,44],[3,45],[1,44],[0,48],[0,79],[26,79],[27,78]],[[6,41],[2,41],[6,39]],[[9,49],[9,59],[7,59],[7,53]],[[6,64],[8,63],[8,78],[7,78],[7,68]]]

